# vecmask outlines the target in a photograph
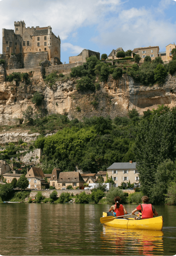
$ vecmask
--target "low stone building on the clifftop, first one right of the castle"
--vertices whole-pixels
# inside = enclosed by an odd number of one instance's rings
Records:
[[[84,50],[82,50],[82,52],[78,56],[69,57],[69,63],[86,62],[86,58],[89,58],[92,55],[94,55],[98,59],[100,59],[100,53],[99,52],[93,52],[91,50],[84,49]]]

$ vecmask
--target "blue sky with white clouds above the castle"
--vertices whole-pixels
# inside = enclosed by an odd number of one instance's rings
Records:
[[[2,28],[14,29],[20,20],[26,27],[51,26],[66,63],[83,49],[109,55],[118,47],[165,51],[176,43],[174,0],[0,0],[0,11],[0,53]]]

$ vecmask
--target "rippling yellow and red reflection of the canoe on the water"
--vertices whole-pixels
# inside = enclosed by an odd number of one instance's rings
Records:
[[[163,232],[153,230],[115,229],[103,225],[101,239],[119,255],[163,255]]]

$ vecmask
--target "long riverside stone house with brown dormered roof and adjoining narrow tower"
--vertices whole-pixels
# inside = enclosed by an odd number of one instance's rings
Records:
[[[54,186],[56,189],[62,189],[69,185],[74,189],[76,189],[76,187],[79,187],[80,189],[83,188],[84,179],[78,171],[52,171],[50,186]]]

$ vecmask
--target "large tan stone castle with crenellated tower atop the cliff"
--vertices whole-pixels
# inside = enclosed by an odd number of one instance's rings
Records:
[[[2,54],[6,59],[21,54],[24,68],[38,67],[44,59],[52,65],[60,62],[60,38],[48,27],[27,27],[23,21],[15,21],[13,29],[2,29]]]

